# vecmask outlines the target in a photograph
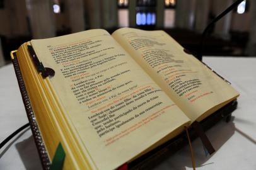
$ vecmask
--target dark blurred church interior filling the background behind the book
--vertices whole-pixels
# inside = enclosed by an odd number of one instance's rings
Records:
[[[9,52],[35,38],[94,28],[165,30],[197,52],[207,24],[233,0],[0,0],[0,66]],[[256,1],[243,1],[212,26],[204,55],[256,55]]]

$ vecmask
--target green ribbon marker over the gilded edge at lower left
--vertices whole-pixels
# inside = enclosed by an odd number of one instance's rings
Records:
[[[65,151],[61,145],[61,142],[59,142],[59,145],[54,154],[54,159],[52,159],[52,164],[50,165],[50,170],[62,170],[65,156]]]

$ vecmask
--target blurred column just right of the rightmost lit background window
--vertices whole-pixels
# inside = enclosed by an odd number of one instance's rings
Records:
[[[178,0],[175,13],[175,26],[189,30],[194,29],[196,0]]]

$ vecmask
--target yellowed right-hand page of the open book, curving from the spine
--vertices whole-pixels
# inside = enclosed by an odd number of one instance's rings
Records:
[[[121,28],[112,37],[194,120],[202,120],[239,94],[207,69],[165,31]]]

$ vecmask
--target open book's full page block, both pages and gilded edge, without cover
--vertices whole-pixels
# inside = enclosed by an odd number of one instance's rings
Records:
[[[42,76],[28,45],[54,76]],[[49,157],[61,142],[64,169],[115,169],[239,95],[164,31],[88,30],[26,42],[16,56]]]

